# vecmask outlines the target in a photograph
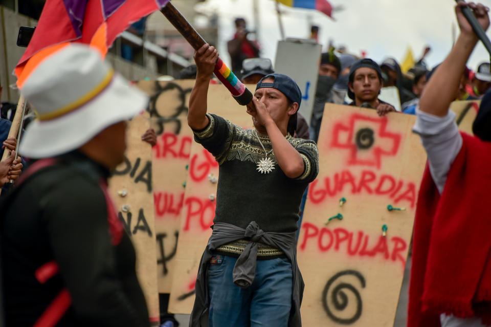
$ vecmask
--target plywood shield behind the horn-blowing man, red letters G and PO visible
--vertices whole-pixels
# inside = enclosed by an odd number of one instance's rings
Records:
[[[222,85],[210,85],[208,112],[229,119],[241,127],[252,120]],[[194,142],[182,209],[181,230],[173,267],[169,312],[189,314],[194,303],[194,285],[199,260],[211,235],[216,206],[218,163],[205,148]]]

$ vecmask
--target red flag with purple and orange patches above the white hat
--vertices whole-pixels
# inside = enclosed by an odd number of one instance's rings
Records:
[[[47,0],[29,46],[15,68],[17,85],[21,87],[37,63],[66,42],[90,44],[105,56],[129,25],[164,7],[168,1]],[[55,45],[58,47],[50,48]],[[36,58],[30,60],[33,56]]]

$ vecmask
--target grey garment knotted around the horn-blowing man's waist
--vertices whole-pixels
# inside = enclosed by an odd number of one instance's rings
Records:
[[[292,263],[293,272],[292,309],[290,311],[288,326],[300,327],[302,325],[300,304],[302,302],[304,282],[297,265],[296,232],[264,232],[256,222],[251,222],[246,229],[227,223],[215,223],[213,225],[213,233],[199,264],[198,276],[196,278],[196,297],[189,326],[208,326],[208,309],[210,305],[208,296],[208,265],[213,251],[222,245],[242,238],[250,238],[250,242],[235,264],[233,271],[234,284],[242,288],[247,288],[254,281],[258,242],[280,249]]]

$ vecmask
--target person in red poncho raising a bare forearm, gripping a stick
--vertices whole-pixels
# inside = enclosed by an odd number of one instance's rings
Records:
[[[475,136],[459,133],[449,111],[478,41],[464,6],[484,30],[489,27],[487,7],[457,4],[460,35],[416,109],[413,130],[428,166],[414,225],[408,327],[491,325],[491,93],[482,99]]]

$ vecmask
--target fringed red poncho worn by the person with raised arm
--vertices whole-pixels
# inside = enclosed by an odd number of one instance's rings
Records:
[[[440,196],[427,166],[413,238],[408,327],[441,313],[491,324],[491,142],[462,134]]]

